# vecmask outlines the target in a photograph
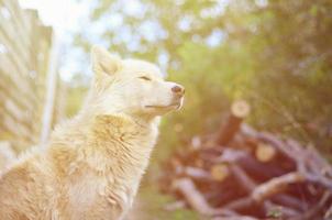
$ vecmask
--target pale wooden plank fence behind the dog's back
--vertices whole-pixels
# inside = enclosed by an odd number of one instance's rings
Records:
[[[0,0],[0,141],[16,151],[40,142],[51,47],[36,11]]]

